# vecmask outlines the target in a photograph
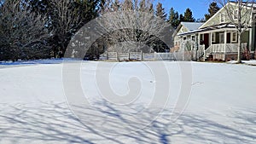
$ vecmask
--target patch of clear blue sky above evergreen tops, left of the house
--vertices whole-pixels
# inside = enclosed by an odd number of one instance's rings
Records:
[[[183,14],[189,8],[192,10],[195,19],[204,18],[204,14],[208,13],[208,7],[211,2],[211,0],[160,0],[167,14],[169,14],[172,7],[178,14]]]

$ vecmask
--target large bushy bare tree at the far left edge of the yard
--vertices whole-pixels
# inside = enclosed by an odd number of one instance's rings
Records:
[[[0,6],[0,58],[37,59],[49,56],[44,15],[27,9],[25,1],[5,0]]]

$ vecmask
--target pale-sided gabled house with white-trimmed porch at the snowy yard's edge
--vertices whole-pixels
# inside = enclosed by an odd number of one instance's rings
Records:
[[[241,34],[241,52],[251,54],[255,51],[255,8],[252,13],[244,13],[244,19],[249,19],[247,31]],[[254,6],[255,5],[255,6]],[[228,3],[225,7],[234,8],[233,20],[237,20],[236,3]],[[244,7],[243,9],[248,9]],[[243,11],[241,11],[243,12]],[[232,60],[237,58],[238,37],[235,23],[232,23],[226,9],[219,9],[205,23],[182,22],[174,33],[175,48],[188,50],[193,59]]]

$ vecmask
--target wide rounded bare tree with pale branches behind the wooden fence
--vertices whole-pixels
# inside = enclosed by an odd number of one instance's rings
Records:
[[[172,28],[165,20],[152,13],[153,1],[125,0],[117,2],[109,0],[108,3],[112,7],[106,8],[105,13],[107,14],[104,16],[107,19],[103,21],[102,26],[107,26],[107,31],[115,31],[108,35],[110,43],[119,47],[114,50],[163,52],[165,49],[169,49],[171,45],[169,43],[172,42]],[[119,8],[116,7],[117,5]],[[170,37],[166,35],[170,35]],[[151,49],[148,49],[149,47]]]

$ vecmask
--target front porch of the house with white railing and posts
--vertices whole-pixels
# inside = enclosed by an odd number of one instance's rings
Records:
[[[241,35],[241,53],[250,46],[250,31]],[[213,60],[236,59],[238,53],[238,36],[234,29],[218,29],[199,34],[200,45],[204,45],[204,60],[211,57]],[[232,55],[230,57],[230,55]]]

